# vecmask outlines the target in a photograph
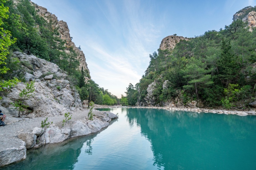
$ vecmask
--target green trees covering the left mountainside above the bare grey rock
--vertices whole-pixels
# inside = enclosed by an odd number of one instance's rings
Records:
[[[65,45],[58,28],[52,26],[51,20],[47,22],[39,16],[29,0],[19,0],[18,3],[0,0],[0,18],[1,95],[5,92],[4,88],[18,81],[25,82],[24,63],[11,57],[12,52],[20,51],[57,64],[68,75],[68,80],[79,92],[81,100],[106,105],[119,103],[119,99],[107,89],[99,87],[93,80],[85,81],[85,77],[90,78],[90,75],[88,70],[79,69],[76,52]]]

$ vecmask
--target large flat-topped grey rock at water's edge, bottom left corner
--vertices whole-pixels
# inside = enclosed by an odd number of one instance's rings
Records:
[[[24,141],[22,143],[18,147],[5,148],[0,151],[0,167],[26,159],[26,143]]]

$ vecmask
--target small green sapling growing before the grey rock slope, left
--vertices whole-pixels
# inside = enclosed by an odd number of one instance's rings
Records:
[[[27,83],[26,88],[19,93],[19,100],[12,103],[15,109],[19,111],[19,117],[20,112],[23,113],[25,111],[24,109],[28,108],[28,105],[25,105],[25,100],[33,95],[33,92],[35,91],[34,83],[34,81],[32,81],[30,84]]]

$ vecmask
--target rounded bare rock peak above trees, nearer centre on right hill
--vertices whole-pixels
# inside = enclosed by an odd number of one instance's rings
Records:
[[[172,50],[174,49],[175,45],[179,43],[181,40],[188,41],[187,38],[184,38],[182,36],[175,36],[175,35],[169,35],[162,39],[159,49],[160,50]]]

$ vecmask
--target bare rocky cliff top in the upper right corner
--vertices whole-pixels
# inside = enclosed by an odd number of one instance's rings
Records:
[[[233,20],[236,21],[242,19],[244,22],[248,22],[250,31],[256,27],[256,6],[247,6],[233,15]]]

